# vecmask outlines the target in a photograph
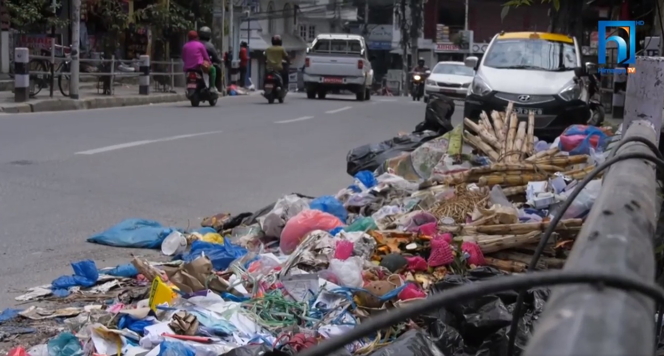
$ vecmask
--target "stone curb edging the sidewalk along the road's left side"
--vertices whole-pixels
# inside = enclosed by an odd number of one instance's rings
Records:
[[[186,101],[185,94],[151,94],[125,97],[87,97],[84,99],[45,99],[35,103],[20,103],[8,107],[0,107],[3,113],[41,113],[45,111],[70,111],[105,109],[108,107],[137,106],[156,103],[174,103]]]

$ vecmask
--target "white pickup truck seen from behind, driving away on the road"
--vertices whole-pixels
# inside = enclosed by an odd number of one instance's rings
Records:
[[[325,99],[328,91],[353,91],[357,100],[369,100],[373,69],[367,44],[357,34],[319,34],[307,48],[304,87],[309,99]]]

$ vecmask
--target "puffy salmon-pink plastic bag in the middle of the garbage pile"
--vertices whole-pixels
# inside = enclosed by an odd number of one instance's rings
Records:
[[[335,215],[313,209],[300,211],[286,221],[279,248],[286,255],[290,255],[307,233],[314,230],[330,231],[339,226],[343,226],[343,223]]]

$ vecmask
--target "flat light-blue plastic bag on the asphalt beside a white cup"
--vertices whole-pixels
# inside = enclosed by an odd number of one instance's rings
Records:
[[[157,221],[126,219],[102,233],[88,237],[88,242],[115,247],[159,249],[172,232],[172,228],[163,227]]]

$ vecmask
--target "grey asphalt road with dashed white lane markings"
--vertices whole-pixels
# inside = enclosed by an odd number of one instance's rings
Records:
[[[460,121],[457,107],[455,121]],[[284,194],[334,194],[351,182],[349,149],[412,131],[409,98],[268,105],[260,95],[89,111],[0,115],[0,309],[17,290],[150,252],[86,243],[130,217],[199,225],[262,208]],[[153,253],[154,254],[154,253]]]

